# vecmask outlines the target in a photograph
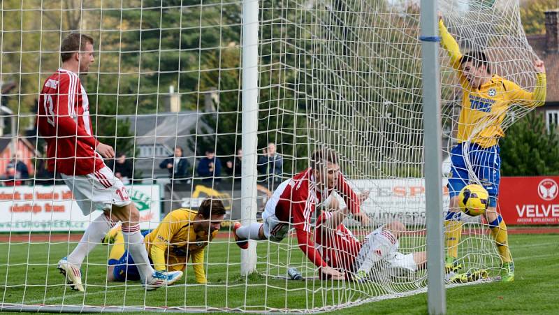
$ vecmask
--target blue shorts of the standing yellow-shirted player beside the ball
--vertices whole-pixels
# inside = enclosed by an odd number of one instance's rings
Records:
[[[500,148],[498,145],[481,147],[476,143],[472,143],[467,148],[467,152],[463,152],[464,145],[465,142],[462,142],[451,150],[452,166],[448,184],[450,197],[458,196],[464,186],[476,182],[470,177],[470,173],[467,170],[464,156],[464,154],[467,154],[473,173],[489,193],[489,207],[495,207],[501,181]]]

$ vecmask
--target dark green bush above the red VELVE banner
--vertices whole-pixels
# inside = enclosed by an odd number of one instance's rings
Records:
[[[504,176],[559,174],[559,134],[556,128],[546,130],[539,112],[530,112],[509,127],[500,147]]]

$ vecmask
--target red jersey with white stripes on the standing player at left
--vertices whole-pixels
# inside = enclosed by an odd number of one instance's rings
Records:
[[[43,85],[38,103],[38,130],[47,141],[48,169],[87,175],[105,167],[94,147],[89,100],[78,75],[59,68]]]

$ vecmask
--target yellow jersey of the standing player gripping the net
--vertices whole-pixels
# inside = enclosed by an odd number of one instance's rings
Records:
[[[546,99],[546,75],[537,74],[534,92],[522,89],[516,83],[493,75],[491,80],[479,88],[471,87],[460,71],[462,53],[458,43],[439,21],[439,31],[444,49],[449,52],[451,65],[459,73],[462,85],[462,109],[458,119],[458,143],[470,140],[481,147],[497,145],[499,138],[504,136],[502,121],[511,104],[527,107],[544,105]]]

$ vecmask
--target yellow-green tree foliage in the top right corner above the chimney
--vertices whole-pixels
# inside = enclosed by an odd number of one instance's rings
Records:
[[[527,35],[544,34],[546,31],[546,10],[559,8],[557,0],[528,0],[520,8],[520,16]]]

